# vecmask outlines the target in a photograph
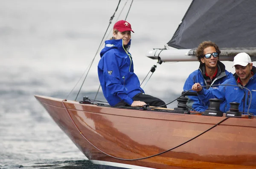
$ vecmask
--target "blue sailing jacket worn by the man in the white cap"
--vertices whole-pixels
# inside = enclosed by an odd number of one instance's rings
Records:
[[[239,86],[219,86],[217,89],[202,89],[200,92],[198,92],[198,97],[207,105],[209,105],[209,99],[211,98],[218,98],[222,101],[226,101],[227,107],[224,112],[229,111],[230,102],[240,103],[239,112],[247,112],[250,99],[252,99],[249,112],[256,115],[256,67],[253,66],[252,72],[254,74],[253,77],[251,77],[248,83],[244,86],[250,90],[252,95],[250,95],[250,92],[247,89],[241,88]],[[222,84],[241,86],[241,84],[237,84],[237,78],[238,76],[235,73],[233,78],[226,80]]]

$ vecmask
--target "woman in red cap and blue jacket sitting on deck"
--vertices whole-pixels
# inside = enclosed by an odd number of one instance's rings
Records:
[[[145,95],[134,73],[131,54],[131,24],[119,20],[113,26],[113,37],[105,41],[100,52],[98,76],[103,94],[111,106],[163,106],[166,103],[157,97]]]

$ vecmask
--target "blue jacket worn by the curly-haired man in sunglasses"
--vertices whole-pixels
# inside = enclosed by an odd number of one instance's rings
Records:
[[[217,63],[218,72],[216,78],[212,81],[211,85],[217,85],[223,83],[225,80],[233,77],[233,74],[225,70],[225,65],[218,61]],[[189,74],[189,77],[186,79],[186,82],[183,86],[183,91],[186,92],[192,88],[195,83],[200,83],[201,86],[206,86],[206,80],[204,78],[205,67],[204,64],[200,64],[199,69]],[[213,88],[218,88],[218,86],[212,86]],[[206,87],[204,87],[206,89]],[[193,92],[193,91],[190,91]],[[208,109],[208,105],[199,100],[197,96],[188,96],[189,100],[187,102],[187,106],[192,107],[198,112],[204,112]],[[224,111],[226,103],[223,102],[221,104],[221,111]]]

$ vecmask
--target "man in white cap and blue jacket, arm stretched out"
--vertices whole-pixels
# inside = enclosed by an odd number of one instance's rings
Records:
[[[209,105],[209,99],[218,98],[222,101],[226,100],[227,106],[224,112],[230,109],[230,102],[239,103],[239,112],[249,112],[256,115],[256,67],[253,66],[250,56],[247,53],[239,53],[234,57],[233,67],[235,66],[236,73],[233,78],[226,80],[225,85],[237,86],[219,86],[219,88],[203,89],[200,83],[195,83],[192,90],[198,92],[198,97],[201,101]],[[247,89],[241,88],[244,86]]]

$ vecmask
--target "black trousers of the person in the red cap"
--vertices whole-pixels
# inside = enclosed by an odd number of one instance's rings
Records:
[[[157,97],[153,97],[151,95],[138,93],[137,95],[132,97],[132,99],[134,101],[143,101],[146,104],[149,104],[149,106],[161,106],[161,107],[167,108],[167,106],[165,105],[166,103],[163,100],[161,100]],[[165,106],[163,106],[163,105],[165,105]],[[122,106],[130,106],[130,105],[128,105],[124,101],[121,101],[121,102],[117,103],[115,106],[116,107],[122,107]]]

